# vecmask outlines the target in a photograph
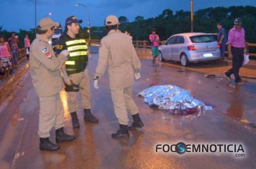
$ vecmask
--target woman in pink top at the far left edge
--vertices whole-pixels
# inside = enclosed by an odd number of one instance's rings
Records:
[[[0,36],[0,60],[1,69],[7,76],[10,74],[10,61],[12,59],[12,52],[8,42],[4,41],[4,36]],[[7,71],[7,74],[5,73]]]

